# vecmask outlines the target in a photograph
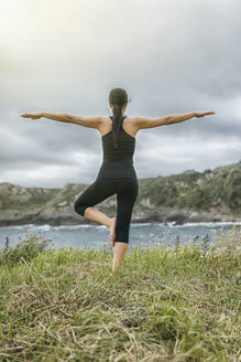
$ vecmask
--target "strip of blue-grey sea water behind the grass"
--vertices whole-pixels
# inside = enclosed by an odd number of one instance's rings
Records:
[[[155,244],[174,246],[179,239],[180,244],[193,242],[201,244],[206,235],[211,243],[216,243],[220,236],[226,236],[231,228],[241,235],[241,222],[216,222],[216,223],[186,223],[174,225],[174,223],[141,223],[131,224],[129,249],[139,246],[140,248],[152,247]],[[9,237],[9,245],[15,246],[18,242],[26,238],[30,232],[42,238],[51,238],[47,248],[75,247],[105,248],[112,249],[109,242],[109,230],[103,225],[73,225],[73,226],[51,226],[51,225],[17,225],[0,227],[0,249],[4,248],[6,238]]]

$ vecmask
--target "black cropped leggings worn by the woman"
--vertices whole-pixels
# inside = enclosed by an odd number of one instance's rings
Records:
[[[131,215],[138,192],[138,180],[97,178],[75,201],[74,210],[85,217],[87,207],[117,194],[116,242],[129,243]]]

